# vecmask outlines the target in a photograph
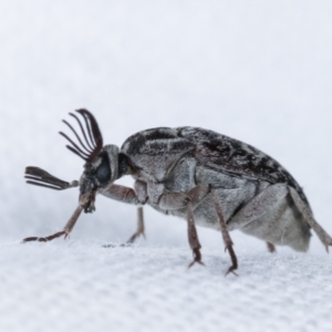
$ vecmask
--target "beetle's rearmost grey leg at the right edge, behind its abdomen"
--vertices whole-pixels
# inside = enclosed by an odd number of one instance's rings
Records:
[[[322,243],[325,246],[326,251],[329,252],[329,246],[332,246],[332,238],[329,236],[329,234],[314,220],[312,214],[308,209],[308,207],[304,205],[303,200],[299,196],[298,191],[293,189],[292,187],[288,187],[289,193],[299,209],[299,211],[302,214],[307,222],[312,227],[314,232],[318,235]]]

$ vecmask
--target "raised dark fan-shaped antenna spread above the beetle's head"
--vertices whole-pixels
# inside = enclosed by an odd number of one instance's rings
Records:
[[[80,146],[74,143],[68,135],[60,132],[59,134],[62,135],[65,139],[68,139],[71,145],[66,145],[66,147],[74,154],[76,154],[79,157],[84,159],[86,163],[92,162],[96,155],[101,152],[103,148],[103,136],[100,131],[98,124],[94,116],[86,110],[81,108],[76,111],[79,114],[81,114],[85,122],[85,128],[83,127],[80,118],[73,114],[70,113],[71,116],[73,116],[82,131],[84,141],[83,142],[75,129],[71,126],[70,123],[68,123],[65,120],[63,122],[70,127],[70,129],[74,133],[75,137],[79,141]]]

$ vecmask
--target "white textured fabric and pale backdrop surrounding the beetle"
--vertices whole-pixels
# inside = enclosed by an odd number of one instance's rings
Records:
[[[77,201],[24,184],[28,165],[77,179],[61,118],[86,107],[105,143],[193,125],[248,142],[303,186],[331,222],[332,4],[328,1],[0,2],[1,331],[331,331],[331,256],[299,255],[199,228],[206,268],[187,270],[186,224],[145,209],[146,241],[103,249],[135,228],[135,208],[97,197],[68,241]],[[132,185],[129,178],[123,184]]]

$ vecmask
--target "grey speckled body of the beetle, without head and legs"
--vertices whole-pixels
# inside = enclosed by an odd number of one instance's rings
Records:
[[[310,208],[302,189],[279,163],[252,146],[201,128],[155,128],[128,137],[121,153],[135,165],[132,176],[146,185],[147,196],[139,200],[154,209],[186,218],[185,207],[164,208],[160,196],[210,185],[229,230],[239,229],[295,250],[308,249],[310,226],[287,190],[293,187]],[[241,210],[273,185],[271,204],[250,220],[239,222]],[[194,216],[197,225],[220,230],[211,194],[197,204]]]

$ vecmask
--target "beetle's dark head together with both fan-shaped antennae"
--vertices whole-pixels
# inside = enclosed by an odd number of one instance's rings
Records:
[[[66,145],[66,147],[85,160],[80,181],[66,183],[34,166],[25,168],[25,178],[28,184],[55,190],[80,186],[80,206],[85,212],[92,212],[95,210],[94,201],[97,190],[107,188],[118,178],[118,147],[115,145],[103,146],[103,136],[94,116],[86,110],[76,112],[83,117],[83,122],[75,114],[70,113],[70,115],[76,120],[82,132],[81,137],[65,120],[63,122],[75,135],[76,143],[66,134],[62,132],[60,134],[70,142],[71,145]]]

